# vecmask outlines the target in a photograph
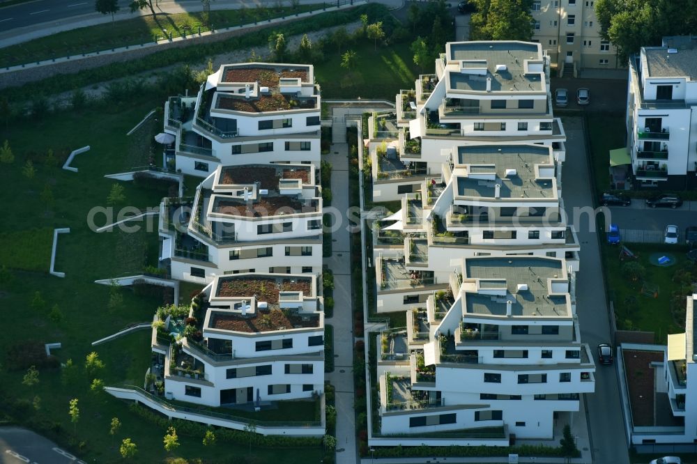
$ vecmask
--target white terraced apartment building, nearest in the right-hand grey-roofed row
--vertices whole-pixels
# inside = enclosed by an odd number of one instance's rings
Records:
[[[453,276],[446,291],[407,311],[406,332],[379,336],[380,433],[369,444],[443,431],[461,431],[470,444],[498,437],[489,443],[501,446],[512,433],[555,438],[555,415],[579,411],[579,395],[595,387],[567,264],[480,256],[462,260]]]

